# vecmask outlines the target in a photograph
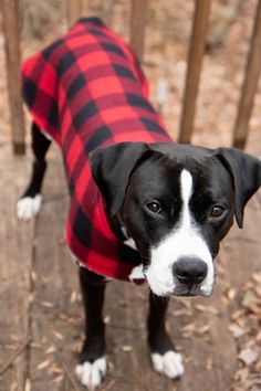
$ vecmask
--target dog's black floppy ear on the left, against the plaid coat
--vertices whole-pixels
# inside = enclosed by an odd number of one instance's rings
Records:
[[[92,175],[104,196],[111,216],[122,207],[129,176],[148,149],[144,142],[119,142],[90,154]]]

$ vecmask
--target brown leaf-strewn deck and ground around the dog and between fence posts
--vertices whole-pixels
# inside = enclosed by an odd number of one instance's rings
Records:
[[[107,3],[103,7],[102,2],[93,1],[84,11],[105,15],[109,25],[127,38],[128,2]],[[221,1],[212,3],[215,19]],[[27,4],[23,57],[65,29],[64,10],[55,8],[59,2],[44,2],[44,7],[36,1]],[[253,0],[243,1],[223,45],[205,57],[195,144],[230,145],[255,4]],[[30,12],[38,12],[39,7],[43,7],[42,29],[34,27],[32,39],[28,20]],[[50,7],[55,10],[52,18]],[[174,138],[180,119],[191,14],[192,2],[149,3],[145,71],[155,103],[158,81],[167,81],[168,95],[161,113]],[[0,390],[82,390],[74,366],[83,339],[83,314],[76,267],[63,236],[67,192],[62,163],[54,147],[41,213],[29,223],[19,223],[14,204],[27,183],[31,156],[29,151],[27,157],[11,155],[2,35],[0,66]],[[258,157],[261,156],[260,106],[259,87],[247,145],[247,151]],[[147,287],[108,284],[104,311],[108,377],[101,390],[261,390],[260,203],[259,192],[247,207],[243,230],[234,226],[223,242],[212,297],[171,300],[168,329],[186,367],[179,382],[168,381],[152,370],[145,329]]]

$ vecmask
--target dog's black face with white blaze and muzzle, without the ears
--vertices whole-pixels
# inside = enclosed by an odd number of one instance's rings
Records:
[[[158,296],[209,296],[213,258],[233,219],[230,175],[208,159],[155,155],[133,172],[123,221]]]

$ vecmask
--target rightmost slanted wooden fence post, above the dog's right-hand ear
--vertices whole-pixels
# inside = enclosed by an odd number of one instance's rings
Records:
[[[258,2],[255,20],[253,25],[251,46],[249,50],[248,64],[244,74],[244,82],[238,107],[238,115],[233,128],[232,145],[243,149],[249,133],[249,120],[253,107],[254,94],[258,87],[258,80],[261,65],[261,0]]]

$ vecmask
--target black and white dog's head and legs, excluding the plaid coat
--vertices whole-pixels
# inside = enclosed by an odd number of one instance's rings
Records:
[[[35,124],[32,136],[34,169],[17,205],[20,219],[39,212],[51,144]],[[139,156],[135,161],[134,155]],[[211,294],[219,243],[234,215],[242,228],[244,205],[261,184],[261,162],[232,148],[126,142],[94,150],[91,166],[108,201],[108,219],[111,210],[121,205],[112,226],[124,224],[127,243],[142,254],[152,290],[147,327],[154,368],[178,378],[184,373],[181,356],[165,329],[168,298]],[[105,278],[80,267],[80,281],[87,316],[76,372],[83,384],[94,389],[106,372],[102,316]]]

